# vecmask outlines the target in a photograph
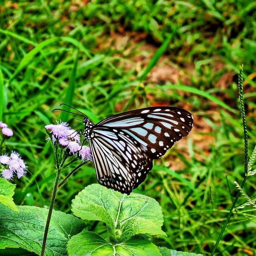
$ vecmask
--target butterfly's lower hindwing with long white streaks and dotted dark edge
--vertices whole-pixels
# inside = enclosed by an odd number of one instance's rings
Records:
[[[142,146],[119,128],[93,128],[89,144],[97,180],[108,188],[130,194],[152,169]]]

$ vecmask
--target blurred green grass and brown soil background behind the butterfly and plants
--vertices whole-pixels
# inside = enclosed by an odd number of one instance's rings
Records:
[[[209,255],[242,182],[238,69],[244,64],[249,152],[256,143],[256,2],[35,0],[0,2],[0,120],[5,152],[28,166],[15,202],[47,207],[55,177],[44,126],[71,104],[93,122],[124,110],[172,105],[193,113],[188,138],[156,161],[135,192],[156,198],[168,237],[158,246]],[[79,122],[73,127],[82,128]],[[64,170],[62,178],[72,170]],[[244,190],[254,199],[256,179]],[[55,209],[96,182],[92,164],[58,190]],[[237,206],[246,202],[241,196]],[[88,230],[106,232],[100,223]],[[255,208],[235,209],[216,255],[255,255]]]

